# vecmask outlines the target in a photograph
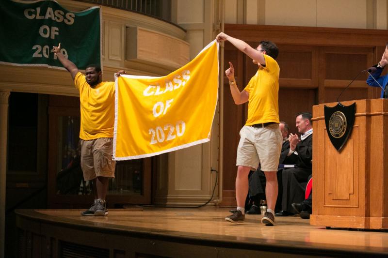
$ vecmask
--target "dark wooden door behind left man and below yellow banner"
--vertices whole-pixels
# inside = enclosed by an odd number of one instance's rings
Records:
[[[49,98],[49,208],[84,208],[91,204],[91,182],[85,182],[80,165],[80,107],[78,97]],[[107,204],[147,204],[151,200],[151,160],[116,162]]]

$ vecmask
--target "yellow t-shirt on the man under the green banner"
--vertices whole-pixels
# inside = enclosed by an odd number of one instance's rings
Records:
[[[74,85],[80,91],[80,138],[92,140],[113,137],[114,82],[103,81],[92,88],[79,72],[74,78]]]

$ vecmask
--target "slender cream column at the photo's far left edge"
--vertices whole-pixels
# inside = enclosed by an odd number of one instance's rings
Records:
[[[0,91],[0,257],[5,242],[5,180],[7,173],[8,98],[10,92]]]

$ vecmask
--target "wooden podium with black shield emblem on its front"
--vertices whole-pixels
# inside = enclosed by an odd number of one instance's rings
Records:
[[[353,131],[340,152],[327,135],[324,105],[313,106],[310,224],[388,228],[388,100],[356,100]],[[386,156],[387,155],[387,156]]]

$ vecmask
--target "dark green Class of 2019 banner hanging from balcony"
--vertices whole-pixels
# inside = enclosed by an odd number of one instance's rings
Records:
[[[63,68],[51,52],[61,51],[80,70],[101,64],[100,7],[70,12],[54,0],[2,0],[0,63]]]

